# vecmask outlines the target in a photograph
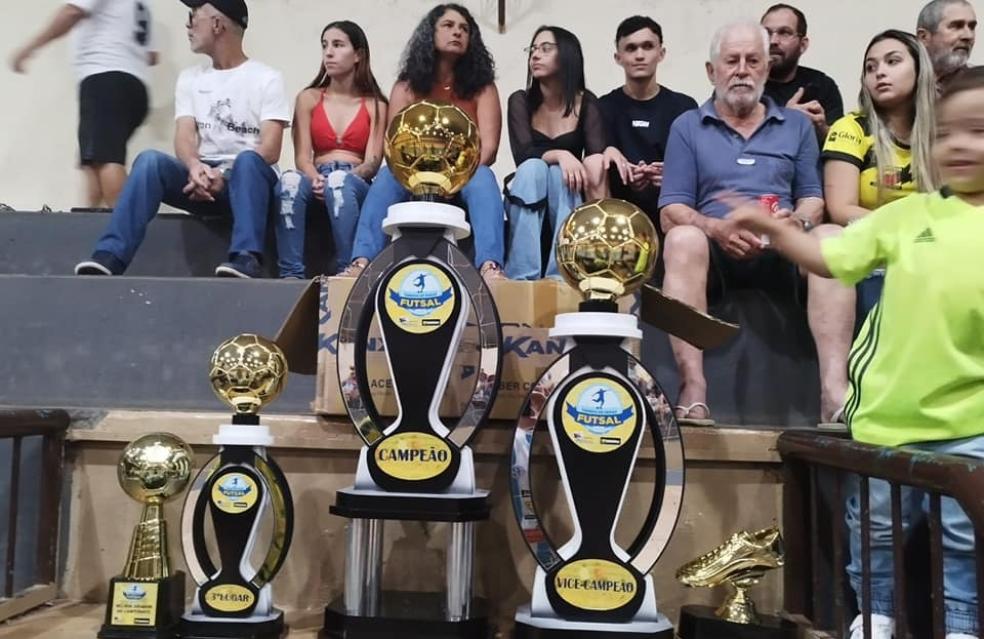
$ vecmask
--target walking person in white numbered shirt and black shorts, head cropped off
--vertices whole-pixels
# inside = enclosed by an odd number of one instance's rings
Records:
[[[157,63],[148,2],[69,0],[10,60],[23,73],[38,49],[73,32],[79,163],[89,206],[116,203],[126,180],[126,143],[147,117],[147,68]]]

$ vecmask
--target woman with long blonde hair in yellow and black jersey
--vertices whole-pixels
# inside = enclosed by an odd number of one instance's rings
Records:
[[[938,184],[932,168],[936,79],[916,36],[890,29],[864,53],[858,110],[830,127],[823,145],[824,200],[842,226],[879,206]],[[857,288],[857,317],[881,297],[884,271]]]

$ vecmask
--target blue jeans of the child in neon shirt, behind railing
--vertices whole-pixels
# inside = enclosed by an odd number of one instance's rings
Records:
[[[984,436],[940,442],[923,442],[910,448],[984,459]],[[868,483],[871,513],[871,611],[891,617],[894,614],[892,581],[892,493],[880,479]],[[848,487],[847,526],[851,538],[851,562],[847,574],[861,606],[861,498],[860,483],[853,477]],[[977,634],[977,577],[974,560],[974,527],[956,501],[940,500],[943,528],[943,596],[947,632]],[[902,527],[908,531],[923,512],[929,510],[929,496],[902,486]]]

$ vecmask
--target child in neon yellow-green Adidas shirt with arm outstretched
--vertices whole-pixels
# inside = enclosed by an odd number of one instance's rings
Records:
[[[947,85],[937,104],[934,164],[945,184],[886,204],[838,237],[821,243],[799,224],[762,215],[757,202],[737,202],[738,228],[768,233],[772,246],[824,277],[854,284],[885,266],[881,302],[851,353],[845,411],[854,439],[881,446],[984,459],[984,67]],[[883,319],[884,318],[884,319]],[[871,585],[875,639],[891,639],[892,519],[888,484],[872,480]],[[902,487],[905,528],[927,506]],[[861,582],[858,491],[848,499],[848,575]],[[978,636],[974,528],[960,506],[942,499],[947,639]],[[859,594],[860,596],[860,594]],[[861,620],[852,639],[862,636]]]

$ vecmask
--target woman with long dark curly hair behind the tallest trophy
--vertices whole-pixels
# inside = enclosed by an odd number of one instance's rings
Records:
[[[503,277],[502,198],[489,166],[495,162],[502,129],[502,110],[495,86],[495,64],[478,24],[468,9],[439,4],[417,25],[403,53],[390,93],[390,117],[423,99],[450,102],[478,124],[480,165],[461,190],[475,237],[475,265],[486,280]],[[387,167],[379,170],[359,218],[346,275],[358,275],[386,245],[382,222],[391,204],[410,198]]]

